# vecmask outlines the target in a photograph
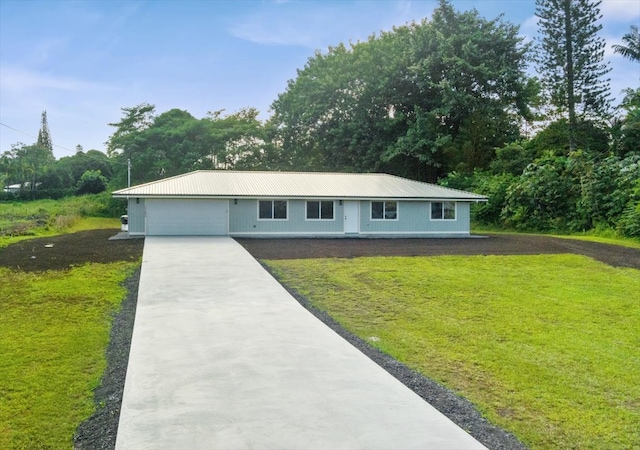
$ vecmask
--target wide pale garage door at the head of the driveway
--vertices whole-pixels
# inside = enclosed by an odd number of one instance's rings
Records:
[[[226,235],[228,200],[147,199],[147,235]]]

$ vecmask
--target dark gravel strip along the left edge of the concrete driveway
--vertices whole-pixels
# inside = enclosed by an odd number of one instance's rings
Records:
[[[82,422],[73,436],[74,449],[112,450],[116,446],[124,381],[129,364],[131,336],[138,304],[140,267],[128,277],[123,286],[127,295],[114,315],[109,335],[107,367],[94,391],[95,412]]]

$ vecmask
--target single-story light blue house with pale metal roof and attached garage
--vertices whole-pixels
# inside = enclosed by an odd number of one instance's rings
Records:
[[[380,173],[199,170],[113,192],[131,235],[465,237],[487,197]]]

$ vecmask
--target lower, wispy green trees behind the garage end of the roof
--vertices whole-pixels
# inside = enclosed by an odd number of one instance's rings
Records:
[[[204,119],[180,109],[158,116],[154,111],[148,104],[123,108],[125,117],[109,124],[116,127],[107,143],[116,169],[114,188],[126,186],[127,161],[132,183],[139,184],[200,169],[260,167],[270,148],[253,108],[227,116],[217,111]]]

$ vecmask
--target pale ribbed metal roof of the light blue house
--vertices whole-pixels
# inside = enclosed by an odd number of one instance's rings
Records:
[[[120,189],[115,197],[352,198],[485,201],[487,197],[382,173],[198,170]]]

